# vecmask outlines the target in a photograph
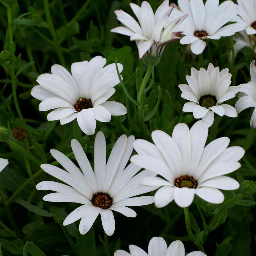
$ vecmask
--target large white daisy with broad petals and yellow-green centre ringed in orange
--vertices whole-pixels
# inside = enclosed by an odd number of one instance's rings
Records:
[[[184,123],[174,127],[172,137],[163,131],[152,132],[152,144],[135,140],[138,155],[131,162],[161,175],[141,180],[142,185],[162,186],[155,193],[156,207],[164,207],[175,201],[180,207],[188,207],[198,195],[212,204],[220,204],[224,195],[219,189],[234,190],[239,183],[228,177],[241,164],[242,147],[229,147],[229,138],[221,137],[205,147],[208,136],[206,122],[198,121],[189,130]]]

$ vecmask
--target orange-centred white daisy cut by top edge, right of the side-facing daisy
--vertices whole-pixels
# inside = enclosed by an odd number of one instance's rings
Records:
[[[222,36],[231,36],[243,29],[240,24],[230,24],[238,14],[238,6],[232,1],[225,1],[219,5],[219,0],[207,0],[205,5],[202,0],[178,0],[178,9],[173,9],[170,18],[178,18],[184,14],[188,17],[180,24],[179,29],[183,35],[181,44],[191,44],[194,54],[201,54],[206,42],[204,39],[220,39]]]

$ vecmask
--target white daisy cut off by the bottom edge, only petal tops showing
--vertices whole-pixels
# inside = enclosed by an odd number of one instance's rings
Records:
[[[153,237],[148,244],[148,253],[140,247],[131,244],[129,246],[130,253],[117,250],[114,256],[185,256],[185,247],[182,241],[173,241],[169,247],[162,237]],[[194,251],[187,254],[187,256],[207,256],[203,252]]]

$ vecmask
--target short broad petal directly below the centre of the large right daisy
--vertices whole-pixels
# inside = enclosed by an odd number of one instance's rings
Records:
[[[182,208],[188,207],[194,200],[195,189],[194,188],[178,188],[174,189],[174,201]]]

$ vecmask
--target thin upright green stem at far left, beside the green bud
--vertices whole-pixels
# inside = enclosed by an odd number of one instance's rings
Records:
[[[12,42],[13,42],[13,28],[12,25],[10,25],[12,21],[12,11],[10,5],[7,6],[7,17],[8,17],[8,31],[9,31],[9,47],[10,51],[14,54],[14,49],[12,50]],[[16,111],[19,115],[19,118],[21,119],[22,122],[25,123],[22,113],[19,108],[19,103],[17,99],[17,93],[16,93],[16,77],[15,77],[15,61],[12,61],[12,66],[11,66],[11,78],[12,78],[12,91],[13,91],[13,100],[14,100],[14,105],[16,108]]]

